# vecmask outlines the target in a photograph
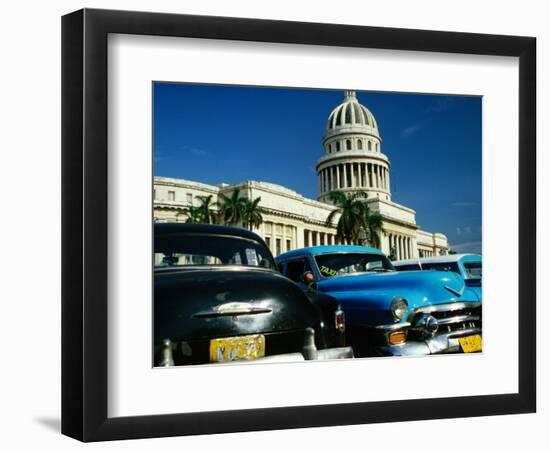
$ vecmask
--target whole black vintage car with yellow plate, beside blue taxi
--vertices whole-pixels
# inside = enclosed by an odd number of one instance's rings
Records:
[[[155,224],[154,364],[353,357],[345,318],[277,272],[255,233]]]

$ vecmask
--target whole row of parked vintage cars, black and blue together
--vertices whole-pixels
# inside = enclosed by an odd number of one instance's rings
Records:
[[[340,245],[274,258],[251,231],[195,224],[155,224],[154,247],[155,366],[482,348],[478,255],[392,264]]]

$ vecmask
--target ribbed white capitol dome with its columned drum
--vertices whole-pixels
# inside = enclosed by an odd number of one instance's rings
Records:
[[[390,161],[382,153],[378,124],[355,91],[345,91],[343,102],[330,113],[323,148],[316,165],[320,201],[330,203],[333,191],[362,191],[370,198],[391,200]]]

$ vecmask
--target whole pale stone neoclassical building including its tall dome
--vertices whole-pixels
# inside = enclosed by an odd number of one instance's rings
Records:
[[[154,220],[185,222],[185,208],[199,205],[197,197],[238,189],[250,199],[261,197],[264,222],[255,231],[278,255],[295,248],[337,244],[336,223],[326,220],[335,209],[329,193],[366,191],[371,210],[381,214],[381,249],[389,254],[395,248],[397,258],[441,255],[448,252],[447,237],[422,231],[416,224],[415,211],[391,200],[390,161],[382,153],[382,138],[374,115],[357,100],[354,91],[346,91],[344,101],[329,115],[323,137],[323,154],[317,161],[317,200],[306,198],[284,186],[262,181],[208,185],[191,180],[155,177]]]

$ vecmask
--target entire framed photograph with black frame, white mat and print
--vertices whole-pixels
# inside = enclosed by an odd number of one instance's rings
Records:
[[[64,16],[62,432],[534,412],[535,67],[532,37]]]

